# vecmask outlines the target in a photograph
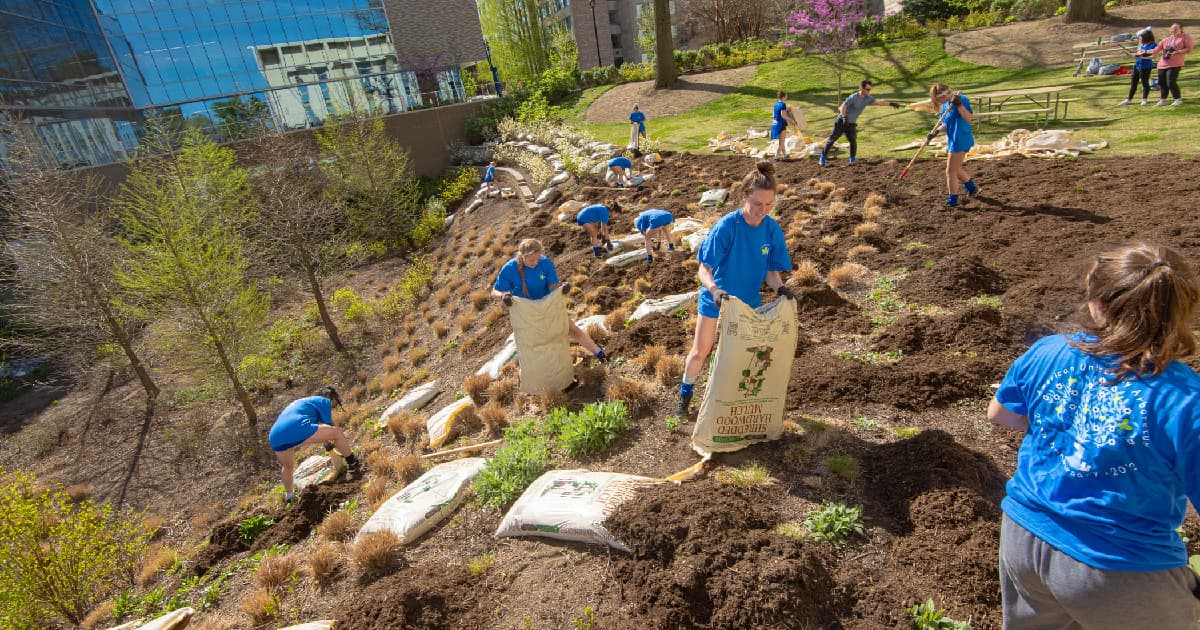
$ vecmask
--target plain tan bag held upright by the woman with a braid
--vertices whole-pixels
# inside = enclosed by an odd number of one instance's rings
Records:
[[[541,394],[566,389],[575,380],[575,366],[563,292],[552,290],[540,300],[514,295],[509,318],[521,365],[521,391]]]

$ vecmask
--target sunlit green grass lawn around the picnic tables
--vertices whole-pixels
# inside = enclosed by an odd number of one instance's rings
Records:
[[[1109,148],[1097,155],[1145,155],[1200,152],[1200,70],[1184,67],[1180,86],[1182,107],[1117,107],[1129,88],[1128,74],[1115,77],[1072,77],[1075,68],[1007,70],[977,66],[946,54],[941,38],[874,46],[852,53],[842,74],[842,94],[858,82],[870,78],[874,95],[908,103],[926,98],[932,83],[947,83],[970,97],[995,90],[1038,85],[1072,85],[1063,98],[1081,98],[1069,104],[1066,120],[1051,121],[1051,128],[1075,130],[1087,142],[1108,140]],[[758,66],[752,79],[734,92],[696,107],[686,113],[654,118],[647,127],[650,138],[664,149],[697,150],[721,131],[745,133],[746,127],[764,130],[770,125],[775,90],[788,91],[790,102],[808,116],[805,134],[822,138],[836,116],[834,89],[836,74],[817,55],[805,55]],[[569,110],[571,122],[598,139],[623,145],[629,138],[626,124],[598,125],[583,122],[583,112],[608,86],[592,88],[580,94]],[[1139,88],[1140,97],[1140,88]],[[1151,104],[1157,102],[1157,90]],[[1136,100],[1134,102],[1138,102]],[[1031,106],[1032,107],[1032,106]],[[1015,109],[1009,106],[1007,109]],[[1024,109],[1024,107],[1021,107]],[[862,156],[898,156],[889,149],[922,138],[934,124],[931,114],[870,107],[858,119]],[[1032,118],[1000,119],[1000,124],[976,125],[976,140],[994,142],[1014,128],[1033,126]],[[845,142],[845,140],[842,140]],[[763,140],[757,140],[763,143]],[[910,152],[899,154],[907,156]]]

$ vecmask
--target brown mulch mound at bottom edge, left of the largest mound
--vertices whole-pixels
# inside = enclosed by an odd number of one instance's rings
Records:
[[[347,596],[337,628],[487,628],[476,584],[461,564],[412,566]]]

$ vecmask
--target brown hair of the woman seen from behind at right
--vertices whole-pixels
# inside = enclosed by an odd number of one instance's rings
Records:
[[[1157,376],[1177,359],[1195,354],[1192,313],[1200,288],[1178,252],[1135,242],[1104,252],[1084,280],[1088,302],[1103,322],[1087,326],[1094,341],[1074,344],[1096,356],[1111,356],[1112,383]]]

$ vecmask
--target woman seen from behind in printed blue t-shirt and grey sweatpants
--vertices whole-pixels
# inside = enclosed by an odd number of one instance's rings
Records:
[[[1200,284],[1175,250],[1102,253],[1085,332],[1036,342],[988,419],[1022,431],[1000,534],[1004,628],[1195,629],[1176,532],[1200,504]]]

